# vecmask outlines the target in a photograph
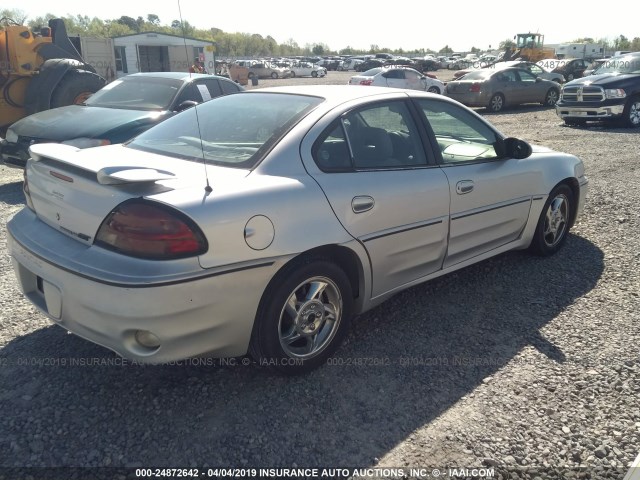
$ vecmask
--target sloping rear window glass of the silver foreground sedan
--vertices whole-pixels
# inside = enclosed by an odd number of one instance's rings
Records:
[[[240,93],[190,108],[136,137],[127,146],[169,157],[253,168],[321,98]]]

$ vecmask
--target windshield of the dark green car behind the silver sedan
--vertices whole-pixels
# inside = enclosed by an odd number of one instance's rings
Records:
[[[124,77],[107,84],[85,102],[92,107],[166,110],[182,81],[159,77]]]

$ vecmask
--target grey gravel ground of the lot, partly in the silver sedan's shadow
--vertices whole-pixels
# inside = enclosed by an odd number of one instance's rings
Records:
[[[535,106],[487,117],[584,160],[590,195],[565,248],[508,253],[405,291],[304,377],[240,361],[119,361],[51,325],[3,255],[0,467],[449,466],[621,479],[640,453],[639,132],[564,127]],[[0,168],[0,178],[6,251],[21,173]]]

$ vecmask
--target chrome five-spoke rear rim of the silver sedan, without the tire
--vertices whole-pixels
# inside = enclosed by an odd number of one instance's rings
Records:
[[[280,313],[278,334],[284,352],[293,358],[318,355],[331,343],[342,318],[338,286],[325,277],[299,284]]]

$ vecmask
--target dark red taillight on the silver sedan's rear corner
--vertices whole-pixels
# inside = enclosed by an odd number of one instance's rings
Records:
[[[133,257],[169,260],[200,255],[207,242],[182,213],[151,202],[125,202],[100,225],[96,244]]]

